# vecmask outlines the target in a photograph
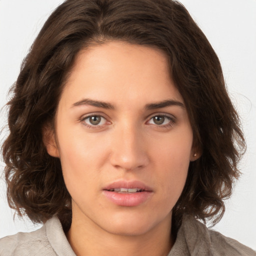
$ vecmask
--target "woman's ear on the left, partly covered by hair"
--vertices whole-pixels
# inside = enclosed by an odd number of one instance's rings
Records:
[[[42,128],[42,141],[49,155],[59,157],[54,130],[48,124],[44,125]]]

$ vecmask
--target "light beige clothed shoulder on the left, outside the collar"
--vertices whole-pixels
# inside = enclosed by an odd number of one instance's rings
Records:
[[[0,256],[30,255],[56,255],[48,241],[45,225],[32,232],[19,232],[0,239]]]

